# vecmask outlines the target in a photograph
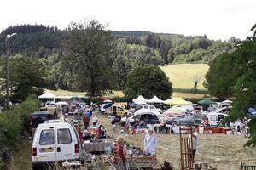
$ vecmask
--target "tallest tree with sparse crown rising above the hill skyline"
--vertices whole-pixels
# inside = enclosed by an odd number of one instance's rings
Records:
[[[73,73],[74,89],[91,96],[113,88],[113,37],[96,20],[71,23],[66,48],[67,69]]]

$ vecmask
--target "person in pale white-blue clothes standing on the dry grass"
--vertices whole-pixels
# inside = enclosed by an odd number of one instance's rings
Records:
[[[147,155],[155,155],[156,144],[157,138],[154,135],[154,129],[149,128],[148,134],[144,138],[144,150]]]

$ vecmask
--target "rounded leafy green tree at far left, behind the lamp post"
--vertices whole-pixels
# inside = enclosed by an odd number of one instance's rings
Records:
[[[42,88],[52,88],[54,85],[45,80],[45,76],[44,67],[38,59],[22,55],[9,59],[10,88],[15,99],[26,99],[30,94],[41,94]],[[4,66],[0,71],[0,77],[5,80]]]

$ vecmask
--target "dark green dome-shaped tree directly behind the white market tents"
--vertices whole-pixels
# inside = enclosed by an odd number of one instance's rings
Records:
[[[147,99],[154,95],[160,99],[168,99],[172,95],[172,83],[160,67],[144,65],[128,74],[124,93],[128,99],[133,99],[137,95],[143,95]]]

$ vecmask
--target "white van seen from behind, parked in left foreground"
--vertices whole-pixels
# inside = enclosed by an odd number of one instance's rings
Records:
[[[81,144],[73,125],[67,122],[39,124],[32,143],[32,167],[44,167],[58,161],[77,161]]]

